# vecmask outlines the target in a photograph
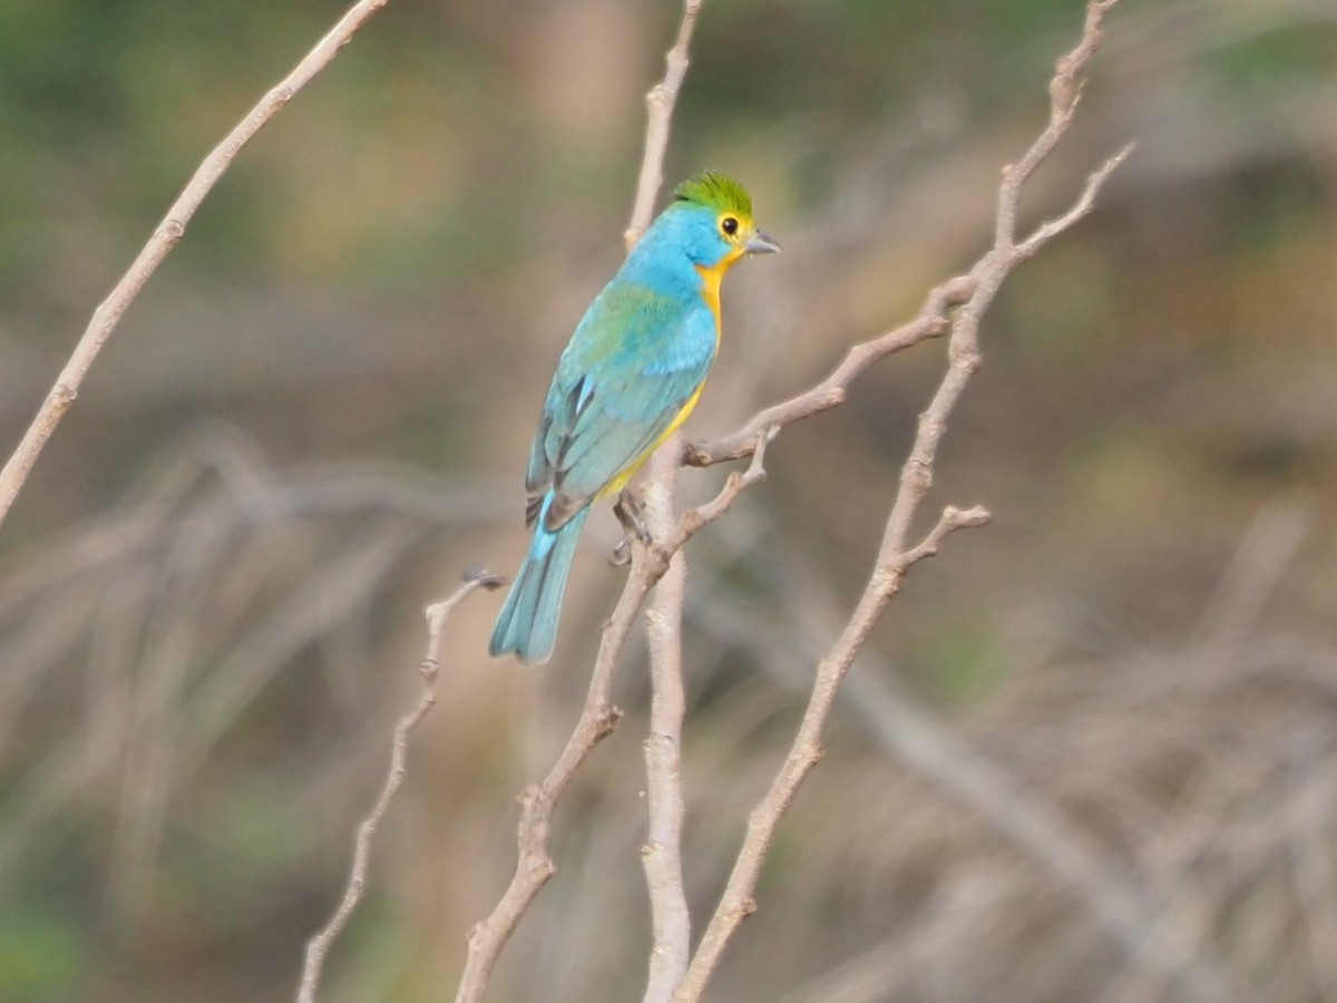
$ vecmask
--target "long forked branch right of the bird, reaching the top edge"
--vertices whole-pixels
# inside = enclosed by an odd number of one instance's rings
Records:
[[[715,913],[702,936],[701,945],[691,959],[682,986],[674,995],[677,1003],[689,1003],[690,1000],[701,999],[726,944],[737,932],[742,920],[755,911],[757,904],[753,899],[753,891],[779,818],[787,809],[804,777],[821,758],[821,734],[825,730],[826,718],[830,714],[840,683],[864,647],[877,618],[896,592],[900,591],[906,570],[924,556],[936,552],[939,543],[947,534],[968,526],[980,526],[987,519],[987,514],[980,508],[963,512],[949,507],[943,512],[941,519],[921,543],[917,546],[909,544],[910,524],[932,484],[933,464],[939,443],[947,429],[947,419],[952,413],[971,376],[980,365],[977,342],[980,318],[992,302],[1004,278],[1024,257],[1015,239],[1021,187],[1067,132],[1076,104],[1078,80],[1099,44],[1102,19],[1115,3],[1118,0],[1092,0],[1088,4],[1082,37],[1078,45],[1059,60],[1058,70],[1050,86],[1051,115],[1048,126],[1021,159],[1015,166],[1007,167],[1003,171],[1003,182],[999,187],[993,246],[980,258],[969,275],[952,280],[931,294],[931,305],[935,301],[941,304],[939,312],[921,312],[920,318],[910,325],[910,330],[919,337],[939,333],[943,326],[941,310],[951,301],[952,293],[969,290],[965,300],[960,304],[956,316],[952,318],[947,345],[948,369],[928,408],[920,415],[915,441],[901,468],[900,487],[886,519],[882,543],[868,586],[840,637],[821,659],[812,697],[790,752],[766,796],[749,816],[743,845]],[[1124,150],[1118,156],[1111,158],[1088,178],[1072,210],[1058,221],[1054,221],[1054,223],[1038,230],[1036,237],[1040,239],[1027,247],[1028,253],[1034,253],[1044,242],[1052,239],[1090,211],[1090,206],[1100,185],[1127,152]],[[892,334],[884,336],[880,342],[894,338],[897,334],[898,332],[892,332]],[[910,336],[905,334],[902,337]],[[893,344],[898,342],[893,341]],[[858,370],[857,364],[853,364],[852,368],[856,372]],[[841,384],[837,384],[834,389],[838,393],[844,393],[844,385]],[[818,411],[828,399],[828,396],[822,396],[822,388],[818,388],[810,397],[805,395],[790,401],[787,411],[769,415],[770,420],[766,424],[782,424],[786,417],[798,415],[805,408]],[[836,400],[838,400],[838,395]],[[830,405],[826,404],[826,407]],[[794,419],[789,417],[789,420]],[[745,431],[750,428],[751,424]],[[733,449],[698,449],[695,451],[694,460],[705,463],[714,459],[725,459],[731,455],[739,455],[738,449],[743,448],[746,448],[746,443],[739,443]]]

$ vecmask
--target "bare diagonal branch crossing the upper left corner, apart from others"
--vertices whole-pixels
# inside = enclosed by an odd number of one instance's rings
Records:
[[[223,177],[223,173],[251,136],[274,118],[312,78],[329,66],[340,48],[346,45],[357,29],[386,3],[388,0],[361,0],[349,8],[329,33],[306,53],[287,76],[270,88],[255,107],[246,112],[246,116],[195,169],[195,174],[176,197],[171,209],[167,210],[167,215],[158,223],[152,237],[139,251],[130,270],[122,275],[107,298],[94,310],[92,318],[64,369],[60,370],[60,376],[56,377],[47,399],[37,408],[32,424],[24,432],[13,455],[0,471],[0,524],[4,523],[15,497],[28,480],[47,440],[51,439],[56,425],[60,424],[66,412],[75,403],[75,397],[79,396],[84,376],[88,374],[88,369],[102,346],[111,337],[111,332],[115,330],[130,304],[139,296],[139,290],[144,288],[150,275],[185,235],[187,223],[195,215],[195,210],[199,209],[205,197]]]

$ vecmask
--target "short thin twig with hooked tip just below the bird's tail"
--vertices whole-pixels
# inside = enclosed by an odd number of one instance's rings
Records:
[[[344,931],[349,916],[353,915],[353,909],[362,900],[362,889],[366,887],[366,867],[372,856],[372,840],[376,839],[376,830],[385,818],[385,813],[390,808],[390,801],[394,800],[394,794],[398,793],[408,776],[405,757],[408,754],[409,736],[436,703],[436,679],[441,671],[441,637],[445,633],[445,621],[472,591],[479,587],[497,588],[501,583],[501,578],[487,571],[471,571],[465,575],[464,584],[452,595],[427,607],[427,654],[422,658],[422,665],[418,667],[422,677],[422,689],[418,693],[417,703],[394,725],[394,741],[390,746],[390,768],[385,774],[385,784],[381,788],[380,797],[376,800],[376,805],[372,808],[370,814],[357,826],[357,839],[353,844],[353,864],[348,876],[348,887],[344,889],[344,897],[340,900],[338,908],[334,909],[334,915],[330,916],[329,923],[306,941],[306,958],[302,964],[302,980],[297,987],[297,1003],[316,1003],[316,990],[320,986],[325,956],[329,954],[330,944]]]

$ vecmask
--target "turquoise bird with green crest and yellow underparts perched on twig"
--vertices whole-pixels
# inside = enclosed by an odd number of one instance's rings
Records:
[[[751,195],[705,171],[683,181],[594,298],[558,360],[529,448],[529,550],[488,650],[552,657],[576,540],[594,502],[620,496],[697,405],[719,348],[719,284],[741,258],[778,251]],[[628,528],[631,528],[628,526]]]

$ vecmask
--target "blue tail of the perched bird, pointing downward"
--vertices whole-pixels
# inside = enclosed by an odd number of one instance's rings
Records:
[[[520,564],[497,625],[492,629],[488,651],[493,655],[515,651],[521,662],[547,662],[556,645],[571,558],[590,510],[576,512],[570,523],[552,532],[543,527],[548,500],[544,500],[533,527],[529,554]]]

